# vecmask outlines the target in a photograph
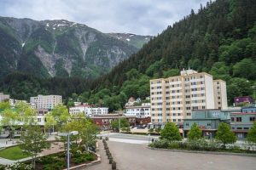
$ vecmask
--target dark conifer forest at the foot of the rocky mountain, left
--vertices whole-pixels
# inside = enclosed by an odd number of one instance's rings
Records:
[[[79,77],[42,79],[26,73],[14,72],[0,80],[0,91],[10,94],[11,98],[26,100],[38,94],[59,94],[67,104],[68,100],[77,99],[78,94],[88,90],[90,82],[90,79]]]

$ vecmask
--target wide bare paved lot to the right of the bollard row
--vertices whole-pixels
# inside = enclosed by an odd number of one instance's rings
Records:
[[[147,144],[108,141],[119,170],[256,170],[256,158],[150,150]]]

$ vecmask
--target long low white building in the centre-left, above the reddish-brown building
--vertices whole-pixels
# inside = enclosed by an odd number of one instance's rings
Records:
[[[75,105],[69,108],[70,114],[84,113],[85,116],[92,115],[106,115],[108,114],[108,107],[92,107],[91,105]]]

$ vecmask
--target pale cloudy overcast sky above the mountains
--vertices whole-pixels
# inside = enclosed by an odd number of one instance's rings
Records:
[[[207,0],[0,0],[0,15],[64,19],[102,32],[156,35]]]

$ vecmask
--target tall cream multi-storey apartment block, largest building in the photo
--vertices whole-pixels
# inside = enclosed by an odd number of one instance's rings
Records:
[[[150,80],[150,98],[151,122],[157,124],[182,125],[183,118],[190,118],[192,110],[227,106],[225,82],[215,82],[212,75],[193,70],[183,70],[177,77]]]

